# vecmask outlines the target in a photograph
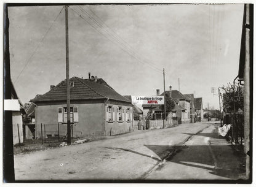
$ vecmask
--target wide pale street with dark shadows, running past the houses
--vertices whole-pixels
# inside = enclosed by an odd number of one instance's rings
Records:
[[[216,129],[209,123],[182,124],[15,155],[15,179],[237,179],[239,158],[227,158],[233,150]]]

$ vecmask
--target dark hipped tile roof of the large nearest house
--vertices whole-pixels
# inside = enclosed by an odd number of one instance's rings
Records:
[[[90,100],[90,99],[112,99],[116,101],[130,102],[126,97],[121,96],[114,91],[102,78],[98,78],[97,82],[89,79],[78,77],[70,78],[70,83],[74,86],[70,87],[70,100]],[[66,80],[60,82],[55,88],[43,94],[40,97],[31,99],[31,102],[41,101],[65,101],[66,100]]]

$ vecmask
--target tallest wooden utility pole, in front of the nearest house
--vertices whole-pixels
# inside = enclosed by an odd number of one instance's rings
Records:
[[[68,145],[71,144],[71,129],[70,129],[70,64],[68,54],[68,6],[65,6],[65,30],[66,30],[66,116],[67,116],[67,134]]]

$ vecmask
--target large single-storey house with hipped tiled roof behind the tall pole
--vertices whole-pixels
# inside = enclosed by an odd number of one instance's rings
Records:
[[[36,105],[36,138],[41,124],[46,137],[66,135],[66,80],[50,91],[31,99]],[[73,137],[114,135],[130,132],[133,127],[132,103],[117,93],[102,78],[70,78],[70,120]]]

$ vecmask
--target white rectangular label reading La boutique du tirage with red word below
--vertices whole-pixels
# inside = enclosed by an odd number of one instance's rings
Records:
[[[164,104],[164,96],[132,96],[132,104]]]

